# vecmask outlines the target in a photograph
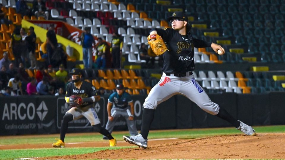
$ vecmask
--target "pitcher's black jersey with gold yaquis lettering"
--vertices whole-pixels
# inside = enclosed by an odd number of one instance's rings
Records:
[[[162,71],[164,73],[193,71],[195,69],[194,47],[211,47],[211,43],[194,39],[190,32],[184,36],[172,28],[156,28],[155,30],[162,37],[169,50],[163,54]]]

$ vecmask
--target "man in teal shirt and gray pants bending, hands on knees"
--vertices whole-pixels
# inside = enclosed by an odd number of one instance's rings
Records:
[[[112,106],[114,106],[112,108]],[[133,136],[137,132],[136,124],[134,123],[134,103],[131,95],[125,92],[123,84],[117,84],[116,92],[112,93],[107,104],[108,122],[106,129],[111,134],[115,126],[115,122],[120,116],[123,116],[128,125],[130,135]],[[103,136],[103,139],[107,137]]]

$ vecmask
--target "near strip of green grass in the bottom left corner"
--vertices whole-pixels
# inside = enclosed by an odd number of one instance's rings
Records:
[[[135,146],[134,146],[135,147]],[[50,157],[93,153],[106,149],[121,149],[130,147],[85,147],[85,148],[42,148],[42,149],[15,149],[0,150],[1,159],[16,159],[30,157]]]

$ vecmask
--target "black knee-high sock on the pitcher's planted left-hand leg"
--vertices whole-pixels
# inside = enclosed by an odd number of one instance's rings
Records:
[[[148,138],[148,132],[151,127],[151,122],[153,121],[154,111],[154,109],[143,109],[142,128],[140,130],[140,134],[144,139]]]

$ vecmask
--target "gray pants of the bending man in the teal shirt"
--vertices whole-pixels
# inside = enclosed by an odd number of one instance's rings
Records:
[[[127,107],[124,109],[113,107],[111,109],[111,116],[113,117],[113,121],[108,120],[107,125],[106,125],[106,129],[111,134],[113,131],[113,128],[115,126],[116,121],[118,120],[118,118],[120,116],[123,116],[127,121],[127,125],[128,125],[130,135],[131,136],[136,135],[137,134],[137,127],[134,123],[134,120],[132,120],[132,121],[129,120],[130,115],[131,115],[130,107]]]

